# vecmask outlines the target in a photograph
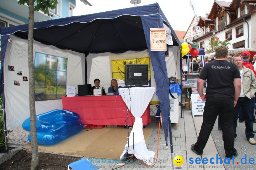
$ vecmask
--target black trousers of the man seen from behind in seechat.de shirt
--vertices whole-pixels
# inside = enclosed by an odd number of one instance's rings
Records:
[[[204,106],[203,124],[194,145],[194,149],[198,153],[203,153],[206,146],[210,132],[213,129],[215,120],[219,115],[220,124],[222,125],[222,138],[224,141],[224,149],[227,156],[235,154],[234,148],[234,98],[226,97],[207,97]]]

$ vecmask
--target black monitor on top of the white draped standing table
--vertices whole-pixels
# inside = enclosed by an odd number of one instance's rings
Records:
[[[126,86],[148,85],[148,64],[126,64]]]

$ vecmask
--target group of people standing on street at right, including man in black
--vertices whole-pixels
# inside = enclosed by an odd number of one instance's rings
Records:
[[[227,47],[221,45],[216,48],[213,58],[205,57],[206,64],[201,68],[197,81],[198,93],[202,101],[206,101],[203,123],[197,142],[191,145],[191,150],[196,154],[203,153],[217,117],[218,130],[223,132],[226,158],[232,159],[238,155],[234,148],[238,119],[240,123],[245,121],[245,137],[249,143],[256,144],[256,130],[253,130],[253,123],[256,123],[256,55],[252,60],[250,56],[249,51],[244,51],[242,55],[229,55]],[[199,71],[200,63],[201,58],[193,58],[191,68]],[[197,70],[192,71],[195,73]]]

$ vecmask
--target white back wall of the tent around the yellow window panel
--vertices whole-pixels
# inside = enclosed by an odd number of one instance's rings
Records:
[[[168,77],[176,76],[180,78],[180,51],[177,46],[169,47],[169,56],[165,57],[167,74]],[[178,57],[177,57],[178,56]],[[149,57],[148,50],[144,51],[126,51],[124,53],[98,53],[98,54],[89,54],[87,58],[87,84],[92,84],[94,86],[94,79],[100,79],[100,86],[105,88],[107,92],[108,87],[110,87],[110,82],[112,79],[111,69],[112,69],[112,60],[127,60],[134,58],[145,58]],[[177,67],[177,69],[176,69]],[[150,77],[151,77],[151,87],[156,87],[154,71],[152,63],[150,60]],[[158,97],[153,95],[152,101],[158,101]]]

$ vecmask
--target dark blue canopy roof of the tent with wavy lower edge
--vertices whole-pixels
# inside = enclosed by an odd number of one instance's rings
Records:
[[[140,51],[147,49],[142,19],[159,15],[170,27],[174,45],[180,44],[158,3],[53,19],[34,23],[34,40],[84,53]],[[1,35],[27,39],[28,24],[1,28]]]

